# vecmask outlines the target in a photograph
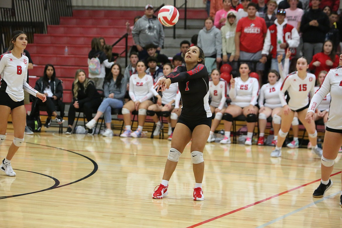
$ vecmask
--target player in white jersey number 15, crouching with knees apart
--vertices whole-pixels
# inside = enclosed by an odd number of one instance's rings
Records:
[[[315,81],[316,76],[312,73],[306,72],[308,69],[308,63],[306,58],[301,57],[297,60],[297,71],[290,73],[283,84],[279,92],[279,97],[282,105],[280,112],[281,126],[278,132],[278,142],[275,150],[272,151],[271,157],[281,156],[281,147],[285,141],[287,133],[290,130],[291,122],[294,117],[294,113],[298,113],[298,119],[303,123],[308,135],[309,140],[313,146],[312,152],[318,157],[322,156],[322,149],[317,147],[317,131],[315,122],[305,122],[305,115],[309,106],[309,93],[312,97],[315,93]],[[285,92],[288,92],[288,102],[285,99]]]

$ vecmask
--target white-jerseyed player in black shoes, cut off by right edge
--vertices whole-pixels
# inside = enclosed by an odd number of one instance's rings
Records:
[[[330,92],[329,118],[324,135],[323,155],[321,157],[321,183],[313,193],[315,198],[323,197],[325,192],[331,188],[332,181],[330,180],[330,175],[334,168],[334,160],[337,158],[339,148],[342,145],[342,54],[340,55],[339,65],[340,67],[331,69],[328,72],[323,84],[312,97],[305,117],[308,123],[314,122],[315,109]],[[340,196],[340,206],[342,207],[342,195]]]

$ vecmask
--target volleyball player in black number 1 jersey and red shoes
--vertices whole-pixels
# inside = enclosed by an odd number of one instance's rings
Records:
[[[177,66],[173,72],[155,84],[155,87],[158,86],[158,90],[161,88],[162,91],[165,91],[171,83],[178,82],[183,107],[173,132],[163,179],[152,195],[154,199],[161,199],[168,195],[169,180],[185,146],[192,139],[190,156],[196,181],[193,199],[204,200],[202,191],[203,150],[209,137],[212,116],[209,106],[209,76],[204,65],[204,53],[198,46],[188,49],[184,61],[185,66]]]

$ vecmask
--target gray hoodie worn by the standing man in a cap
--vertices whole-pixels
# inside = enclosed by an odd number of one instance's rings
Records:
[[[134,24],[132,35],[135,44],[143,48],[150,43],[158,47],[162,47],[164,44],[163,26],[155,15],[152,18],[147,18],[146,15],[139,18]]]

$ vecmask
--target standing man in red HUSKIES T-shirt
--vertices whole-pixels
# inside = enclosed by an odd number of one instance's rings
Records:
[[[248,16],[241,18],[237,23],[235,34],[235,60],[241,59],[257,60],[261,59],[261,51],[264,45],[267,28],[265,20],[255,15],[257,6],[251,2],[248,4]],[[259,81],[262,80],[264,64],[257,64]],[[261,83],[260,83],[261,84]]]

